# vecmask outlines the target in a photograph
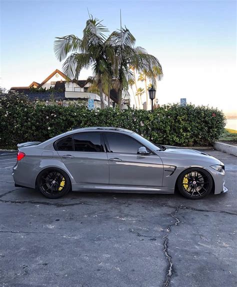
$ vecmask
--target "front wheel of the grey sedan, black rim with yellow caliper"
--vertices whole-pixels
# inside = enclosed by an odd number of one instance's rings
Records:
[[[177,179],[177,188],[181,195],[189,199],[201,199],[211,192],[211,175],[200,168],[183,171]]]

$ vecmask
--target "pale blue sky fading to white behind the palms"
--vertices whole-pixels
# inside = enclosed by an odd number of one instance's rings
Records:
[[[122,25],[158,58],[163,79],[160,104],[186,98],[236,114],[236,1],[0,0],[1,87],[41,82],[62,70],[53,53],[55,37],[82,36],[88,12],[110,32]],[[86,78],[90,71],[82,71]],[[142,83],[138,83],[142,87]]]

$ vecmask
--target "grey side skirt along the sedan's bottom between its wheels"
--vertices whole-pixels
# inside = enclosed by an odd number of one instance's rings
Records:
[[[129,193],[174,193],[174,188],[167,187],[137,187],[137,186],[113,186],[113,185],[92,185],[72,184],[72,191],[105,191],[105,192],[129,192]]]

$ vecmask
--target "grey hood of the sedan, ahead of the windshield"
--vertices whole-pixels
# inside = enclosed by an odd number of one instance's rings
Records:
[[[208,162],[210,165],[222,164],[219,160],[214,157],[209,156],[204,152],[200,152],[192,149],[184,149],[179,147],[164,146],[165,151],[159,151],[158,156],[161,158],[173,158],[173,159],[186,159],[201,162]]]

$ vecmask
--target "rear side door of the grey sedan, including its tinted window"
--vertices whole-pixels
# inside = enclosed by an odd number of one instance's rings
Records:
[[[78,132],[58,140],[55,148],[77,183],[108,185],[108,159],[100,132]]]

